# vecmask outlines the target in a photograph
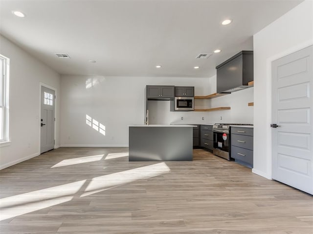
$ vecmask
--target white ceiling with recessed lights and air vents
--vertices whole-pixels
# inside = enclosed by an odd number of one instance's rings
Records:
[[[0,0],[0,34],[62,75],[211,77],[301,1]]]

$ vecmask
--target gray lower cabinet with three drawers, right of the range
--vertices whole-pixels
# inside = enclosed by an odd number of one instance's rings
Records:
[[[253,168],[253,128],[231,127],[230,155],[235,162]]]

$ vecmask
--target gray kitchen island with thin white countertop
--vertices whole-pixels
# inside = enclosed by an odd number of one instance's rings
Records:
[[[129,161],[191,161],[194,125],[129,126]]]

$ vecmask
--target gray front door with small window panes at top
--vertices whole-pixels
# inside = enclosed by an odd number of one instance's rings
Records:
[[[41,87],[40,153],[54,149],[55,92]]]

